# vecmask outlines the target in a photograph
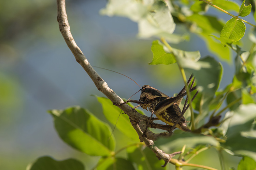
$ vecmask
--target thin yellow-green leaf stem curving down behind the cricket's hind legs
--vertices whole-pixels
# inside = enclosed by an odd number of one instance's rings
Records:
[[[170,50],[170,52],[172,52],[172,47],[167,43],[165,38],[161,37],[161,41]],[[175,60],[177,61],[177,65],[178,65],[178,67],[181,71],[181,75],[182,75],[182,78],[183,78],[183,81],[184,81],[184,84],[185,84],[185,87],[186,87],[188,101],[190,103],[189,108],[190,108],[190,112],[191,112],[191,130],[193,131],[195,129],[194,113],[193,113],[192,102],[191,102],[192,98],[191,98],[189,88],[188,88],[188,85],[187,85],[187,78],[186,78],[186,75],[185,75],[185,70],[181,67],[181,65],[179,63],[179,60],[177,60],[175,55],[174,55],[174,57],[175,57]]]

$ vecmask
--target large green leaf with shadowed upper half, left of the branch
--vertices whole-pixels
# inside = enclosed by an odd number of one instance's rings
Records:
[[[68,145],[88,155],[111,155],[115,141],[110,127],[89,111],[76,106],[48,112],[58,135]]]

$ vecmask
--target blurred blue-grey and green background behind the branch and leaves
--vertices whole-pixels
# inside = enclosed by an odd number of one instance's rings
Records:
[[[147,65],[153,57],[154,39],[138,39],[137,23],[127,18],[101,16],[99,10],[106,2],[66,3],[71,32],[90,64],[123,73],[141,86],[151,85],[169,96],[179,92],[183,84],[177,66]],[[210,8],[208,13],[216,14],[216,10]],[[225,21],[230,19],[224,13],[217,15]],[[252,15],[245,20],[254,23]],[[0,169],[25,169],[43,155],[56,159],[74,157],[86,169],[95,166],[99,158],[67,146],[58,137],[47,113],[49,109],[79,105],[105,121],[101,105],[91,96],[103,94],[75,61],[59,32],[56,1],[0,1],[0,21]],[[251,26],[246,24],[246,28]],[[181,34],[187,32],[184,28],[176,30]],[[199,50],[201,56],[214,56],[203,40],[194,34],[189,37],[190,40],[172,46]],[[242,44],[243,50],[251,47],[247,35]],[[220,88],[224,88],[232,81],[233,60],[220,62],[224,67]],[[139,90],[122,75],[98,68],[96,71],[122,98],[128,99]],[[139,94],[133,97],[138,98]],[[237,166],[239,159],[230,160],[230,166]]]

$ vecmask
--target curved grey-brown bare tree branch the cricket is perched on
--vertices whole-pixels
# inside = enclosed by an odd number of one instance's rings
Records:
[[[91,80],[93,80],[95,86],[100,90],[106,97],[108,97],[113,103],[123,103],[124,101],[116,95],[116,93],[109,88],[108,84],[100,77],[100,75],[91,67],[89,64],[87,58],[83,54],[83,52],[80,50],[80,48],[76,45],[75,40],[71,34],[70,26],[68,22],[68,16],[66,13],[66,4],[65,0],[57,0],[57,8],[58,8],[58,15],[57,15],[57,21],[59,22],[59,30],[65,39],[69,49],[75,56],[75,60],[83,67],[83,69],[87,72]],[[172,157],[175,154],[180,154],[180,152],[175,152],[173,154],[167,154],[164,151],[158,149],[155,146],[155,143],[153,140],[150,140],[146,137],[142,137],[143,131],[145,130],[148,117],[142,114],[139,114],[134,108],[128,106],[127,104],[119,105],[117,106],[120,109],[122,109],[130,119],[130,122],[133,126],[133,128],[136,130],[136,132],[139,135],[139,139],[141,142],[145,142],[146,146],[150,148],[159,159],[163,159],[166,163],[165,165],[170,162],[173,165],[177,166],[177,164],[180,165],[179,161],[177,159],[172,159]],[[162,125],[155,125],[155,127],[161,127],[163,129],[167,128]],[[154,124],[153,124],[154,128]],[[147,130],[146,133],[152,134],[149,135],[152,138],[156,138],[157,136],[163,136],[158,134],[153,134],[150,130]],[[164,166],[165,166],[164,165]],[[182,164],[181,164],[182,165]]]

